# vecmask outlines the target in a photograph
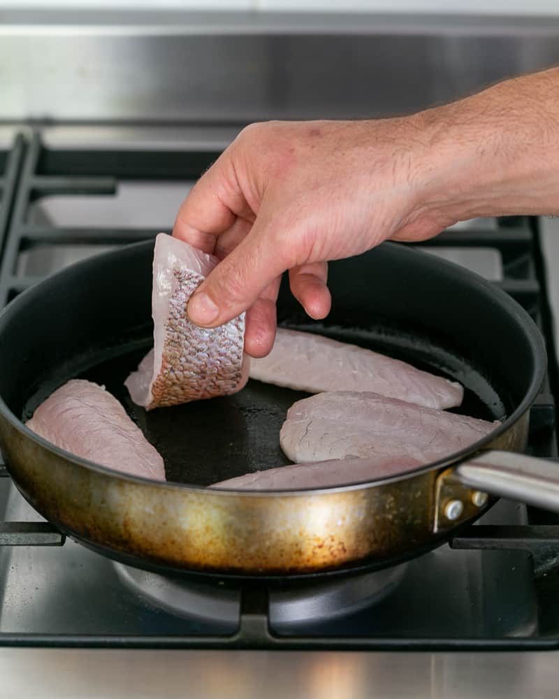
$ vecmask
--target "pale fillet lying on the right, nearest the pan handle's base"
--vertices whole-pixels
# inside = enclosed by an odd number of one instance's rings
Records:
[[[347,456],[430,463],[469,447],[500,424],[358,391],[318,394],[287,411],[279,442],[291,461]]]

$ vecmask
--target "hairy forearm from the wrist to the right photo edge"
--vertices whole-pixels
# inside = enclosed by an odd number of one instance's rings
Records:
[[[423,206],[456,220],[559,214],[559,69],[412,119],[428,134]]]

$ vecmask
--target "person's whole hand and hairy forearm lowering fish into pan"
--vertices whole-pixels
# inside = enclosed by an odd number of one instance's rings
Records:
[[[286,270],[320,319],[328,260],[477,216],[557,213],[558,82],[546,71],[395,119],[247,127],[177,214],[173,234],[222,260],[189,317],[215,327],[249,309],[245,351],[265,356]]]

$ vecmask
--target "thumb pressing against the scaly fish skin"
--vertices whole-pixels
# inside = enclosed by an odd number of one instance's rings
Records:
[[[215,328],[250,308],[289,263],[269,226],[256,219],[248,235],[196,289],[188,304],[192,322]]]

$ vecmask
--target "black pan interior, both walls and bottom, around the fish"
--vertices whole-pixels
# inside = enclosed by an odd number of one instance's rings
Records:
[[[0,321],[0,395],[29,417],[73,377],[104,384],[164,456],[168,480],[205,486],[287,463],[279,428],[305,394],[249,382],[235,396],[145,412],[123,382],[152,336],[153,243],[90,259],[18,298]],[[504,294],[428,254],[385,244],[331,264],[333,310],[310,323],[282,285],[278,320],[377,349],[462,382],[460,412],[484,419],[511,415],[544,363],[527,315]],[[37,291],[40,289],[40,292]],[[37,338],[41,338],[38,342]]]

